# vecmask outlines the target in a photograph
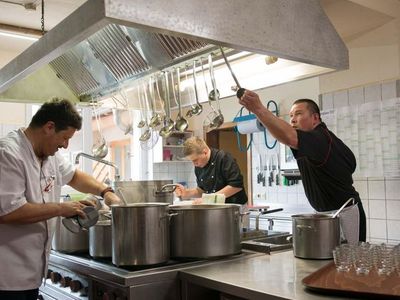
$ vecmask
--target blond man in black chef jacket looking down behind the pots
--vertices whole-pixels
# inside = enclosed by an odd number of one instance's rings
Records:
[[[178,197],[200,198],[203,193],[217,193],[225,195],[225,203],[247,203],[243,176],[231,154],[208,147],[199,137],[187,139],[183,146],[185,157],[195,166],[197,187],[186,189],[178,184],[175,190]]]

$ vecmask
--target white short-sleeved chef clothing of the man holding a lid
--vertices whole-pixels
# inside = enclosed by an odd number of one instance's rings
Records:
[[[25,203],[59,202],[75,169],[56,153],[41,166],[23,128],[0,139],[0,215]],[[56,218],[32,224],[0,224],[0,290],[29,290],[47,272]]]

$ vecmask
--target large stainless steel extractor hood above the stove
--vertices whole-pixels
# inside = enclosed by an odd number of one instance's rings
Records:
[[[88,101],[216,46],[348,68],[318,0],[89,0],[0,70],[0,101]]]

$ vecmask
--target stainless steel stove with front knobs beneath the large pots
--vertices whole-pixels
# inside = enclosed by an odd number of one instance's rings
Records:
[[[50,254],[43,299],[180,299],[180,270],[261,255],[251,251],[212,260],[170,260],[162,265],[116,267],[110,259],[87,254]]]

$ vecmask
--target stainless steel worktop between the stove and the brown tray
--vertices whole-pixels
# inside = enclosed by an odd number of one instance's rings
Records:
[[[301,283],[329,262],[295,258],[293,251],[284,251],[182,270],[183,299],[195,299],[198,287],[245,299],[353,299],[316,294]]]

